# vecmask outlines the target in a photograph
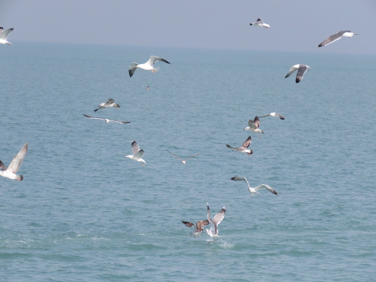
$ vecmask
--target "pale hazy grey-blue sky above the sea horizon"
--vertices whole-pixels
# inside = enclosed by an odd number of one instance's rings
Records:
[[[257,18],[269,29],[251,27]],[[0,0],[8,41],[376,55],[376,0]],[[359,33],[316,48],[340,30]],[[8,47],[8,46],[0,46]]]

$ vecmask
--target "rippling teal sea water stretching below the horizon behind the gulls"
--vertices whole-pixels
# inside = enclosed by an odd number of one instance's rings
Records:
[[[24,180],[0,179],[0,280],[374,279],[375,56],[0,47],[0,159],[29,143]],[[171,64],[129,78],[150,55]],[[312,67],[298,84],[295,64]],[[120,108],[94,113],[108,98]],[[243,131],[270,112],[286,119]],[[250,134],[251,157],[226,147]],[[132,140],[145,167],[124,158]],[[206,202],[227,209],[210,244],[181,223]]]

